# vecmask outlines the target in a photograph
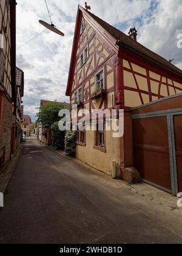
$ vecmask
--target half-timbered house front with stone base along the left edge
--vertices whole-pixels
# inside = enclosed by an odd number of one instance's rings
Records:
[[[16,1],[0,1],[0,166],[19,144],[22,92],[16,83]]]

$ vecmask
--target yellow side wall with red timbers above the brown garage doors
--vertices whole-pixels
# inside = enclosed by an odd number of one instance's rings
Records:
[[[152,101],[174,95],[175,93],[182,93],[182,84],[169,79],[169,77],[161,76],[160,74],[135,65],[134,63],[129,63],[127,60],[123,60],[123,67],[124,105],[126,107],[138,107],[143,103],[146,104],[150,102],[149,87],[152,92]],[[147,77],[147,71],[149,77]],[[147,78],[149,78],[149,84]],[[138,92],[138,89],[141,90],[140,93]],[[141,98],[143,99],[143,102],[141,101]]]

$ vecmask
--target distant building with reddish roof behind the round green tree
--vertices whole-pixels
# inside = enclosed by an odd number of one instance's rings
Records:
[[[70,104],[66,102],[58,102],[58,101],[45,101],[41,99],[40,107],[43,107],[48,103],[56,103],[58,105],[62,105],[65,108],[70,108]],[[46,145],[50,145],[52,143],[52,135],[50,126],[42,126],[41,123],[38,123],[38,140],[42,141],[42,143]]]

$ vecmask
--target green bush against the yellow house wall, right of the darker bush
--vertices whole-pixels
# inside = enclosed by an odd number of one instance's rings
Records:
[[[76,155],[76,132],[70,131],[65,137],[65,152],[67,156],[75,157]]]

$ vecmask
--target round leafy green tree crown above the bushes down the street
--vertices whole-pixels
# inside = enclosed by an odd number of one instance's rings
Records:
[[[61,118],[58,116],[59,110],[65,108],[64,105],[58,102],[49,102],[42,107],[39,107],[39,112],[36,114],[39,123],[43,126],[51,126],[58,122]]]

